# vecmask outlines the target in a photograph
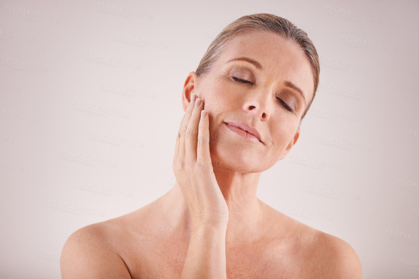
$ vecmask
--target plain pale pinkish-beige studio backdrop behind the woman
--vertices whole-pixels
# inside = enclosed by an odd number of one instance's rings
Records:
[[[0,278],[61,278],[57,261],[73,230],[132,212],[171,189],[187,74],[222,28],[260,12],[306,31],[322,64],[294,157],[261,175],[258,197],[347,241],[360,257],[363,278],[418,278],[419,264],[415,271],[402,263],[419,261],[419,5],[406,2],[2,0]],[[111,5],[140,10],[142,17],[124,17]],[[43,17],[25,15],[28,10]],[[152,44],[124,44],[115,40],[118,33]],[[384,49],[347,45],[357,38]],[[140,69],[104,65],[86,53],[125,59]],[[114,84],[137,94],[112,91]],[[120,116],[75,110],[83,102]],[[330,118],[330,110],[337,116]],[[117,138],[127,142],[117,144]],[[67,151],[70,156],[63,157]],[[89,166],[63,159],[71,152],[108,162]],[[298,164],[313,159],[340,164],[344,171]],[[106,165],[114,162],[116,167]],[[101,184],[111,190],[98,192]],[[331,196],[316,195],[319,187],[330,188]],[[65,203],[88,212],[60,211]],[[329,217],[295,216],[296,207]],[[416,241],[394,239],[399,233]]]

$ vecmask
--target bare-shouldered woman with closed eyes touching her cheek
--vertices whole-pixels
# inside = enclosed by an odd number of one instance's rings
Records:
[[[73,233],[62,278],[362,278],[346,242],[256,198],[261,172],[297,142],[319,71],[313,43],[284,18],[227,26],[184,83],[176,187]]]

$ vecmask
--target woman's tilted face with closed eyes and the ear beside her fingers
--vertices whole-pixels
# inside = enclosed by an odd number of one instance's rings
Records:
[[[184,92],[189,88],[204,101],[217,166],[261,172],[287,155],[314,89],[310,62],[297,44],[252,31],[230,41],[210,72],[191,74]],[[241,136],[246,133],[226,124],[231,122],[255,128],[260,141]]]

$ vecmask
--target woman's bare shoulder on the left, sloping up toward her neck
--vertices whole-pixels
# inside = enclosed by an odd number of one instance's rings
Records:
[[[155,202],[126,215],[87,225],[62,248],[60,269],[67,278],[140,278],[158,244],[152,235]]]

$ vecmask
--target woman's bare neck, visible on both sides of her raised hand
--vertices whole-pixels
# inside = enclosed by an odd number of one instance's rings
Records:
[[[256,197],[261,173],[225,172],[214,168],[214,174],[229,211],[226,243],[257,238],[262,222],[261,202]],[[173,187],[164,195],[161,206],[168,212],[172,227],[192,230],[192,218],[180,188]]]

